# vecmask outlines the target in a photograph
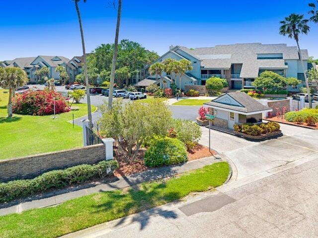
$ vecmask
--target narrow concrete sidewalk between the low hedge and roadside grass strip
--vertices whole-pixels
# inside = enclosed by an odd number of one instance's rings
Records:
[[[116,181],[108,183],[94,183],[82,186],[77,186],[73,189],[62,189],[52,193],[46,193],[42,196],[34,196],[24,201],[13,204],[9,203],[7,206],[0,205],[0,216],[21,213],[23,211],[33,208],[43,208],[54,206],[65,201],[82,197],[97,192],[112,191],[124,187],[136,185],[138,183],[147,182],[155,179],[160,179],[168,176],[172,176],[178,173],[191,171],[194,169],[202,168],[205,165],[219,162],[222,159],[219,157],[208,157],[203,159],[196,159],[187,163],[150,169],[141,173],[132,174],[130,176],[117,178]],[[11,205],[12,204],[12,205]],[[5,205],[5,204],[4,204]],[[10,206],[11,205],[11,206]],[[2,208],[1,208],[2,207]]]

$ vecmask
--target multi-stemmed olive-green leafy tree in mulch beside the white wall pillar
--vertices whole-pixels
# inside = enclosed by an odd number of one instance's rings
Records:
[[[114,138],[119,153],[132,163],[147,138],[165,136],[171,125],[171,112],[162,102],[123,103],[115,100],[112,108],[100,107],[102,116],[98,123],[105,137]]]

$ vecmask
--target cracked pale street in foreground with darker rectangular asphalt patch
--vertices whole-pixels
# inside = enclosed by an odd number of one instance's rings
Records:
[[[226,186],[66,238],[318,237],[318,159],[221,192]]]

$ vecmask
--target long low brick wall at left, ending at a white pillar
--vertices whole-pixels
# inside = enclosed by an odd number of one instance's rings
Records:
[[[23,158],[3,159],[0,160],[0,182],[33,178],[50,170],[93,164],[104,159],[104,144]]]

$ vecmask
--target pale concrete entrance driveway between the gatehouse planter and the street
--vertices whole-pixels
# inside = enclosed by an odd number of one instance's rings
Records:
[[[265,142],[249,142],[242,138],[211,130],[211,147],[229,159],[237,170],[237,179],[309,156],[318,157],[318,131],[281,124],[283,137]],[[208,146],[208,129],[202,128],[200,143]]]

